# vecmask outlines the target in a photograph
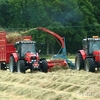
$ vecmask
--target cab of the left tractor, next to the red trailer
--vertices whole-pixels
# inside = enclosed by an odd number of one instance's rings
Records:
[[[20,41],[15,43],[16,52],[19,58],[24,58],[27,52],[36,54],[35,41]]]

